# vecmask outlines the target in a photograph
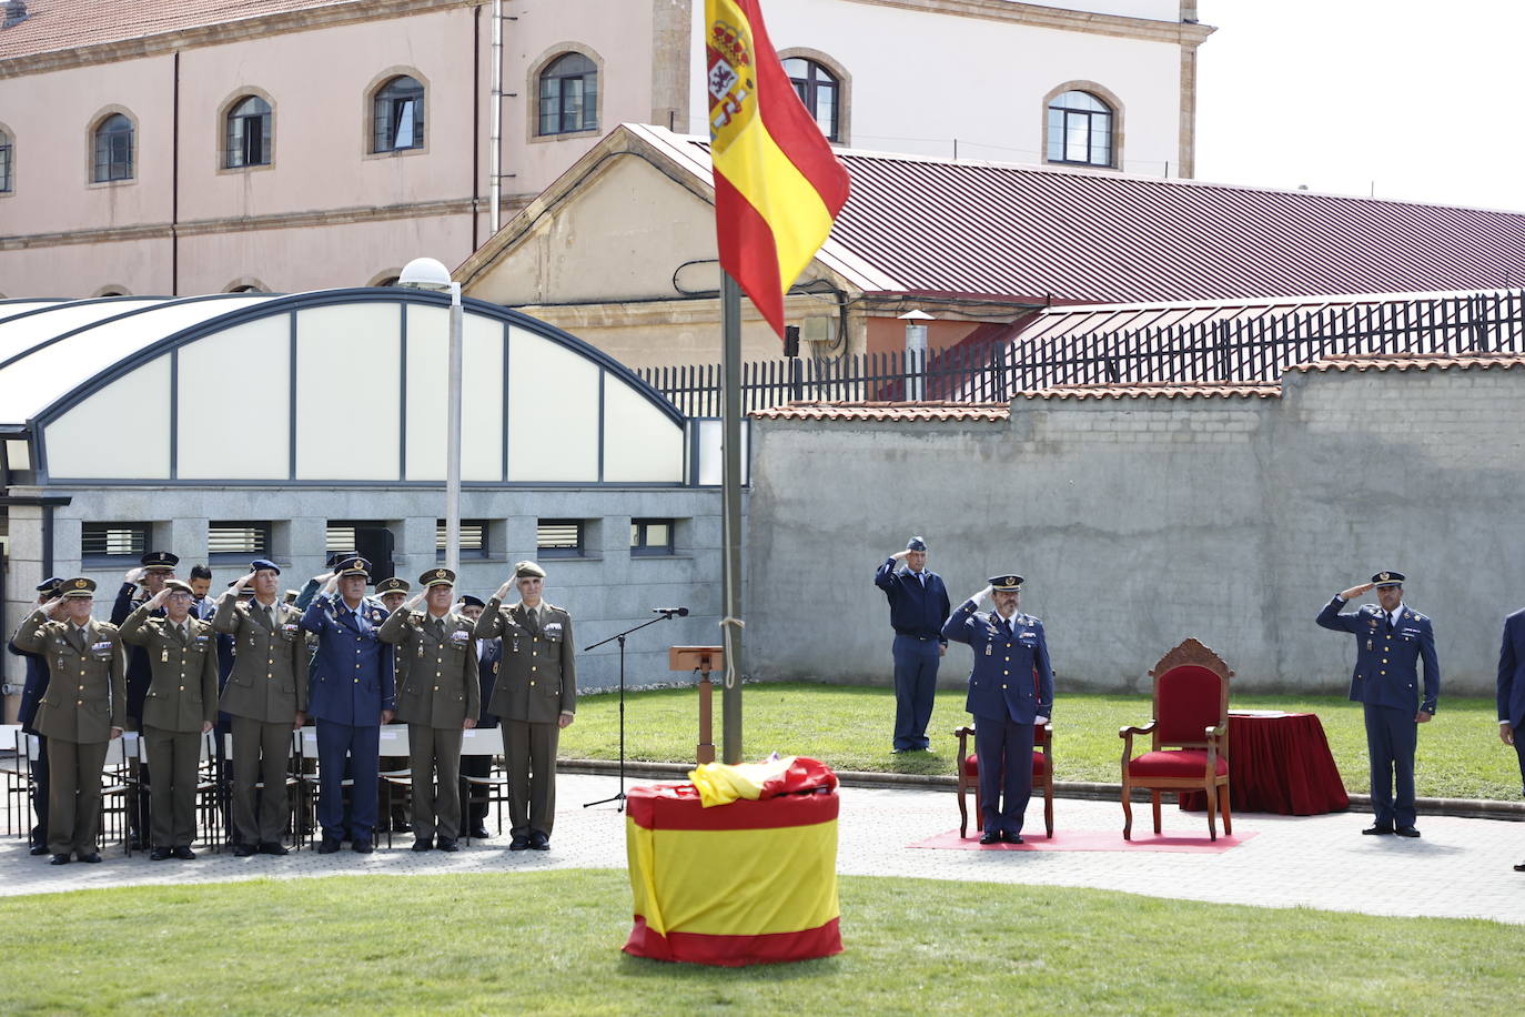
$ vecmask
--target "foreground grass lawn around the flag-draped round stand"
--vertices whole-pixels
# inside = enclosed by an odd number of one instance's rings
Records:
[[[619,951],[624,872],[334,877],[0,901],[6,1014],[1501,1012],[1525,929],[848,877],[845,951]],[[1427,961],[1426,961],[1427,959]]]

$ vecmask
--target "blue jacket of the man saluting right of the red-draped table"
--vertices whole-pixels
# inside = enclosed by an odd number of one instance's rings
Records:
[[[1350,677],[1350,698],[1366,706],[1391,706],[1426,714],[1435,712],[1440,697],[1440,660],[1435,657],[1435,630],[1430,619],[1405,604],[1398,624],[1388,633],[1385,611],[1377,604],[1362,604],[1340,614],[1345,601],[1337,596],[1319,611],[1318,624],[1356,636],[1356,669]],[[1418,694],[1418,663],[1424,662],[1424,698]]]

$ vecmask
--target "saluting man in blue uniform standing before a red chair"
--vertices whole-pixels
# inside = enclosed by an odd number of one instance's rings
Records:
[[[982,845],[1022,843],[1022,819],[1032,797],[1032,726],[1054,715],[1043,622],[1017,610],[1020,593],[1022,576],[994,576],[942,627],[946,639],[974,651],[964,707],[974,715]],[[979,604],[987,596],[996,610],[982,614]]]

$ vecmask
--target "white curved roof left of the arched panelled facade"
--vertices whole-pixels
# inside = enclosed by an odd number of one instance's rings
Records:
[[[180,329],[270,299],[270,294],[236,294],[67,303],[0,322],[0,422],[23,424],[140,349]],[[140,311],[131,314],[134,310]],[[47,343],[64,334],[69,337]]]

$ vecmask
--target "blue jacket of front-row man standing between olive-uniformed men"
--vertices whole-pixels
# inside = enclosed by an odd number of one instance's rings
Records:
[[[396,709],[392,646],[377,639],[387,611],[371,601],[360,611],[364,627],[343,598],[317,596],[302,614],[302,628],[317,633],[307,709],[317,720],[380,727],[381,711]]]

